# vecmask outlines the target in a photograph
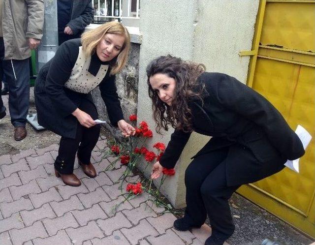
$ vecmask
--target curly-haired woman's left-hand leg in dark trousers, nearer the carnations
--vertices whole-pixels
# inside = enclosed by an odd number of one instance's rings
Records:
[[[197,156],[189,164],[185,173],[186,211],[182,219],[174,222],[178,230],[188,230],[193,226],[201,226],[207,217],[207,212],[200,188],[207,176],[226,157],[228,148]]]

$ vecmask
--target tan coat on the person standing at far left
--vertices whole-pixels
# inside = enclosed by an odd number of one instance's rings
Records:
[[[44,0],[3,0],[4,60],[31,57],[28,38],[41,39],[43,25]]]

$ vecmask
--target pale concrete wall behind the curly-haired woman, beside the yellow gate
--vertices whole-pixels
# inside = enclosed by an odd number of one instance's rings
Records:
[[[224,72],[246,82],[249,57],[239,57],[240,50],[250,50],[259,0],[146,0],[141,1],[138,121],[152,127],[151,101],[148,97],[146,65],[160,55],[171,54],[184,60],[202,62],[207,71]],[[173,130],[157,134],[148,142],[168,143]],[[185,206],[185,169],[190,157],[209,140],[192,133],[175,169],[161,191],[175,207]],[[141,169],[141,164],[138,166]],[[149,176],[151,169],[147,170]],[[159,184],[159,180],[155,182]]]

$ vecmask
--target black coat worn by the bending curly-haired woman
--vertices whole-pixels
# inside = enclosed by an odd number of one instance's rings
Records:
[[[194,131],[213,137],[193,158],[238,145],[240,149],[248,150],[259,163],[241,159],[235,166],[236,161],[227,162],[226,177],[230,185],[250,183],[272,175],[284,167],[286,159],[297,159],[305,153],[299,137],[283,116],[259,93],[221,73],[204,72],[199,81],[205,85],[207,95],[203,104],[189,102]],[[175,166],[189,136],[190,133],[174,131],[160,158],[163,167]],[[250,176],[238,181],[233,179],[233,171]]]

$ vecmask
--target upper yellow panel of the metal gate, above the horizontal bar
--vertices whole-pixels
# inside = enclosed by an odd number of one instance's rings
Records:
[[[312,2],[267,2],[261,44],[315,50],[314,13]],[[313,41],[310,43],[310,40]]]

